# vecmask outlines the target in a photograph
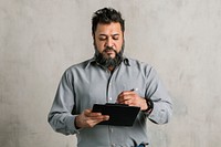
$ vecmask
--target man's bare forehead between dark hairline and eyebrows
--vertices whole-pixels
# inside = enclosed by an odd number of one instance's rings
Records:
[[[120,28],[120,23],[118,22],[112,22],[109,24],[103,24],[103,23],[98,23],[96,31],[96,34],[122,34],[122,28]]]

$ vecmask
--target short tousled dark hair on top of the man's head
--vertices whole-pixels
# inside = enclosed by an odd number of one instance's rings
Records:
[[[125,31],[124,20],[120,12],[116,11],[113,8],[103,8],[94,12],[92,18],[92,32],[95,34],[98,23],[109,24],[112,22],[119,22],[122,31]]]

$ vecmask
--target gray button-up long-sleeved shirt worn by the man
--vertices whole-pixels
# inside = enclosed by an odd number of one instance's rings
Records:
[[[154,102],[150,114],[140,112],[133,127],[96,125],[76,129],[74,119],[96,104],[115,103],[119,93],[137,88],[136,93]],[[171,116],[171,101],[156,71],[143,62],[124,59],[112,73],[94,59],[71,66],[60,82],[49,123],[59,133],[76,134],[78,147],[134,147],[148,143],[147,118],[165,124]]]

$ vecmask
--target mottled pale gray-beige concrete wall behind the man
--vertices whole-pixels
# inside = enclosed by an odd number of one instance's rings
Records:
[[[0,0],[0,147],[74,147],[46,123],[65,69],[91,57],[92,13],[126,19],[125,53],[152,64],[175,103],[154,147],[220,147],[220,0]]]

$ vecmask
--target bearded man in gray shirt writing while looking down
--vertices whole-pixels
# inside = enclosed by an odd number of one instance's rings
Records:
[[[156,71],[123,56],[124,31],[119,12],[112,8],[96,11],[92,19],[94,57],[69,67],[60,82],[49,123],[59,133],[76,134],[78,147],[146,146],[146,120],[165,124],[171,116],[170,97]],[[126,104],[140,112],[131,127],[97,125],[109,116],[93,113],[95,103]]]

